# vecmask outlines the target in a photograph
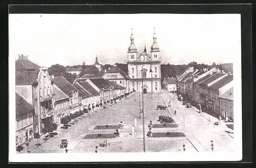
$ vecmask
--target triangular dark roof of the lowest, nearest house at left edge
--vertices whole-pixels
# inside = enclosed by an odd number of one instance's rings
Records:
[[[35,108],[29,104],[22,96],[15,92],[15,104],[16,104],[16,116],[28,114],[35,110]]]

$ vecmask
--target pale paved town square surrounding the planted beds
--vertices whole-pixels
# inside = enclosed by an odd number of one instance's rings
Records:
[[[163,98],[162,98],[163,97]],[[142,100],[142,97],[140,95]],[[165,104],[164,101],[171,101],[172,107],[168,110],[157,110],[158,104]],[[141,101],[142,104],[142,101]],[[174,115],[173,111],[177,110]],[[147,132],[147,125],[150,120],[153,124],[158,124],[159,115],[172,115],[176,123],[179,125],[177,128],[153,128],[152,132],[166,132],[177,131],[184,132],[186,137],[162,137],[155,138],[146,137],[146,151],[152,152],[167,152],[167,151],[180,151],[182,144],[186,145],[186,151],[210,151],[210,140],[214,141],[215,151],[231,150],[232,137],[224,131],[224,124],[215,126],[212,124],[214,119],[209,122],[205,116],[199,114],[194,108],[186,108],[182,105],[181,101],[177,100],[174,94],[163,91],[163,94],[154,95],[153,99],[150,94],[144,95],[144,115],[145,115],[145,132]],[[185,119],[185,126],[183,127],[183,116]],[[137,119],[137,127],[135,127],[135,135],[131,137],[131,126],[134,125],[134,119]],[[37,149],[31,153],[58,153],[65,152],[65,149],[60,149],[59,144],[62,138],[67,138],[69,142],[69,152],[94,152],[95,146],[104,139],[83,139],[85,134],[89,133],[114,133],[114,130],[95,130],[96,125],[119,125],[123,121],[124,128],[119,129],[122,136],[116,139],[108,139],[110,142],[122,141],[121,145],[113,145],[104,149],[99,148],[99,152],[143,152],[142,146],[142,115],[139,119],[139,95],[132,94],[125,100],[118,102],[115,105],[108,106],[108,108],[99,110],[93,115],[82,118],[80,121],[72,125],[69,129],[60,131],[57,135],[42,143]],[[62,125],[61,125],[62,126]],[[44,135],[42,135],[44,136]],[[80,142],[82,141],[82,142]],[[193,145],[192,145],[192,144]],[[34,148],[36,141],[30,143],[29,150]],[[21,153],[27,151],[26,146]],[[183,151],[182,151],[183,152]]]

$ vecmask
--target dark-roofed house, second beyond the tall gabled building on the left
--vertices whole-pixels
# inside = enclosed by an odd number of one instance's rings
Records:
[[[71,85],[71,83],[65,77],[54,77],[54,84],[63,93],[69,96],[69,113],[74,114],[76,111],[83,110],[81,102],[82,93]]]

